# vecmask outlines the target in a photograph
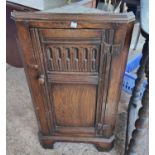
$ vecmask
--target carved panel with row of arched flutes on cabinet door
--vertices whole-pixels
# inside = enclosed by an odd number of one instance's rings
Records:
[[[98,45],[49,45],[46,47],[50,71],[98,72]]]

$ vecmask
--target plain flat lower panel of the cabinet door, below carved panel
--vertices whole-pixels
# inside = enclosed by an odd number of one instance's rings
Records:
[[[94,126],[96,86],[53,84],[52,97],[58,126]]]

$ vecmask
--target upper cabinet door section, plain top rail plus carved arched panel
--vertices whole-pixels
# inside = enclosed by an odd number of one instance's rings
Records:
[[[39,32],[47,70],[98,72],[100,30],[41,29]]]

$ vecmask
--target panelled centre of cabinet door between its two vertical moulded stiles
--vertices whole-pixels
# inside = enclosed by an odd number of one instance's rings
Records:
[[[31,34],[40,39],[54,134],[95,134],[101,30],[32,29]]]

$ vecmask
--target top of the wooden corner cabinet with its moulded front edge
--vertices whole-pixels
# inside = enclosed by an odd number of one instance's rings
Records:
[[[78,6],[77,6],[78,7]],[[72,7],[71,7],[72,8]],[[80,8],[82,8],[81,12],[79,12]],[[88,11],[89,10],[89,13]],[[76,12],[77,11],[77,12]],[[79,6],[78,9],[74,13],[70,12],[12,12],[12,17],[17,21],[32,21],[37,20],[42,22],[44,21],[89,21],[90,23],[129,23],[135,21],[135,16],[133,12],[121,13],[121,14],[113,14],[113,13],[105,13],[99,11],[97,9],[88,9],[87,7]],[[86,12],[85,12],[86,11]],[[93,28],[93,27],[92,27]]]

